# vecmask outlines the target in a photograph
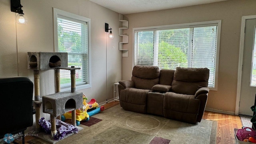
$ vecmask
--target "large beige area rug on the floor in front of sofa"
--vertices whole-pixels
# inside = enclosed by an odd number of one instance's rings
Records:
[[[80,124],[83,130],[57,144],[216,143],[217,122],[212,120],[188,124],[162,116],[126,111],[120,105],[108,108],[93,117],[102,121],[90,127]]]

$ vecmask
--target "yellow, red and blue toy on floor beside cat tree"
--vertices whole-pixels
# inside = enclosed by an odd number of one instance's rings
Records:
[[[89,116],[93,116],[94,114],[98,114],[100,111],[104,110],[104,106],[100,106],[98,108],[99,104],[96,102],[94,98],[88,103],[86,103],[86,96],[83,95],[83,107],[76,110],[76,125],[78,126],[80,124],[80,121],[85,120],[86,122],[90,120]],[[92,110],[94,108],[94,110]],[[88,112],[90,111],[90,112]],[[66,112],[61,116],[61,120],[65,121],[66,119],[72,119],[72,114],[70,112]]]

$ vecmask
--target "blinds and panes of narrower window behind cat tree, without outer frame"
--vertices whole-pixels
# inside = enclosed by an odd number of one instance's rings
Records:
[[[88,22],[58,15],[57,26],[58,51],[68,53],[68,67],[81,68],[76,70],[76,85],[88,84]],[[60,70],[60,86],[71,86],[69,70]]]

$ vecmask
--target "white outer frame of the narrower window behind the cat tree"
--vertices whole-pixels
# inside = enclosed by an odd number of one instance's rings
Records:
[[[79,16],[64,10],[53,8],[53,24],[54,24],[54,52],[58,52],[58,15],[67,17],[68,19],[79,20],[88,24],[88,72],[89,82],[88,84],[77,84],[76,90],[82,90],[92,87],[92,74],[91,74],[91,19],[84,16]],[[61,91],[68,91],[70,87],[60,88]]]

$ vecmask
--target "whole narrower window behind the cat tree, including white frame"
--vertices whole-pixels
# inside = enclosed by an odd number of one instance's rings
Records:
[[[76,70],[77,89],[90,87],[90,19],[54,8],[55,51],[68,53]],[[60,70],[60,87],[70,89],[70,71]]]

